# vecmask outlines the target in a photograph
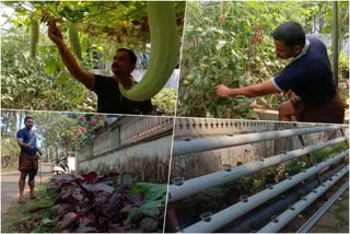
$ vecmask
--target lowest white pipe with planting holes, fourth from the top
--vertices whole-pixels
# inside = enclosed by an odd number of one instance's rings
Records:
[[[336,184],[343,175],[349,172],[349,166],[340,169],[331,178],[323,183],[315,190],[310,192],[306,197],[298,201],[290,209],[285,210],[283,213],[278,215],[273,221],[265,225],[258,231],[258,233],[276,233],[284,225],[287,225],[291,220],[293,220],[299,213],[301,213],[305,208],[313,203],[319,196],[322,196],[328,188]]]

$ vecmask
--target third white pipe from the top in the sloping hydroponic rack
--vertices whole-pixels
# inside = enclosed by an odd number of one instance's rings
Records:
[[[253,195],[252,197],[248,197],[245,201],[237,202],[213,215],[211,215],[211,219],[209,222],[206,222],[205,220],[199,221],[186,229],[184,229],[182,232],[185,233],[208,233],[213,232],[221,226],[226,225],[228,223],[232,222],[233,220],[237,219],[238,217],[247,213],[248,211],[255,209],[256,207],[265,203],[266,201],[270,200],[271,198],[278,196],[279,194],[285,191],[287,189],[295,186],[298,183],[301,183],[302,180],[306,179],[307,177],[316,174],[320,169],[339,162],[341,159],[349,155],[349,150],[337,154],[336,156],[328,159],[327,161],[324,161],[315,166],[312,166],[307,169],[305,169],[302,173],[299,173],[288,179],[284,179],[283,182],[271,186],[270,188],[267,188],[258,194]],[[209,220],[209,219],[207,219]]]

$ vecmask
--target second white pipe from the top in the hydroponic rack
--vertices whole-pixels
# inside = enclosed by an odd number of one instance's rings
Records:
[[[233,179],[236,179],[246,175],[250,175],[260,169],[264,169],[269,166],[278,165],[285,161],[294,160],[306,153],[311,153],[311,152],[320,150],[323,148],[340,143],[348,139],[349,139],[348,137],[337,138],[330,141],[315,144],[315,145],[310,145],[303,149],[290,151],[288,153],[270,156],[270,157],[264,159],[264,161],[255,161],[241,166],[235,166],[235,167],[232,167],[230,172],[220,171],[217,173],[199,176],[196,178],[185,180],[184,184],[180,186],[170,185],[168,187],[170,201],[172,202],[172,201],[183,199],[185,197],[206,190],[208,188],[223,185]]]

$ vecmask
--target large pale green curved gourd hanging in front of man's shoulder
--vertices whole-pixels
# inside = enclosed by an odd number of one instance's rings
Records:
[[[119,83],[122,96],[147,101],[159,93],[172,75],[178,52],[174,2],[148,1],[151,34],[151,59],[142,80],[131,90]]]

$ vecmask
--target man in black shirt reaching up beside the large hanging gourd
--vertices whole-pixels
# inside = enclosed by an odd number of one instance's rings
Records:
[[[144,102],[130,101],[121,95],[118,87],[118,83],[121,83],[125,89],[131,89],[136,83],[131,77],[137,61],[132,50],[125,48],[117,50],[112,63],[114,77],[93,74],[79,66],[77,59],[65,44],[62,32],[56,25],[56,22],[57,20],[49,21],[48,36],[56,44],[70,74],[84,84],[86,89],[96,93],[98,113],[142,115],[152,112],[150,100]]]

